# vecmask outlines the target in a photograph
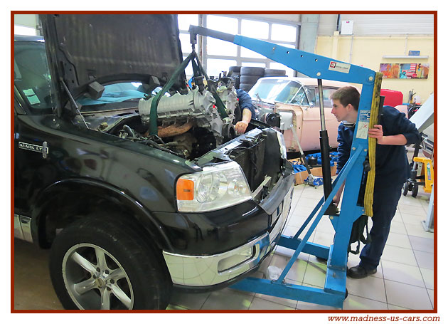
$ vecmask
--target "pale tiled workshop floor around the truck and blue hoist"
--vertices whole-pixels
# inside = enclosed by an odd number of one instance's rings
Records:
[[[314,189],[304,184],[294,187],[292,211],[284,234],[295,234],[322,194],[322,187]],[[348,298],[344,302],[344,309],[425,310],[434,307],[434,234],[424,231],[421,224],[426,219],[429,199],[430,195],[422,192],[417,198],[409,195],[401,197],[378,272],[360,280],[348,278]],[[324,217],[311,234],[310,241],[328,246],[332,243],[334,230],[328,216]],[[16,240],[15,244],[15,308],[61,309],[48,276],[48,251],[38,250],[23,241]],[[284,255],[288,254],[291,255],[292,251],[277,248],[255,276],[261,278],[267,266],[284,268],[289,260]],[[356,266],[358,262],[358,256],[350,254],[348,266]],[[319,263],[314,256],[301,254],[287,274],[286,281],[322,288],[325,273],[325,264]],[[169,309],[334,308],[224,288],[213,293],[174,293]]]

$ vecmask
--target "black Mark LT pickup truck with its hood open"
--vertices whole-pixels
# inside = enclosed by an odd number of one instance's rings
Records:
[[[67,309],[163,309],[174,288],[229,286],[284,227],[282,134],[228,117],[185,73],[176,15],[44,15],[14,38],[14,234],[50,251]],[[227,82],[227,81],[226,81]]]

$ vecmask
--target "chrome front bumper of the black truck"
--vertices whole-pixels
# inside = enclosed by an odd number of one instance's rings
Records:
[[[191,287],[213,286],[224,283],[250,271],[260,264],[266,254],[272,251],[284,229],[292,200],[292,186],[277,208],[277,223],[249,243],[231,251],[212,256],[186,256],[163,251],[166,266],[174,284]]]

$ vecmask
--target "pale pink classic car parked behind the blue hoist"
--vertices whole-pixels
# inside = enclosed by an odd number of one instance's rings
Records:
[[[337,132],[339,122],[331,114],[329,96],[338,88],[350,83],[322,80],[325,125],[329,135],[329,145],[338,146]],[[304,151],[320,150],[319,131],[321,130],[319,90],[317,79],[270,77],[260,78],[249,91],[252,103],[260,112],[259,119],[267,122],[269,114],[280,115],[280,129],[284,134],[287,152],[299,152],[294,130]]]

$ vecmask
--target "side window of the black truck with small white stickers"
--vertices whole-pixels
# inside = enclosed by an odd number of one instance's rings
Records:
[[[31,113],[53,112],[55,92],[43,41],[14,42],[14,85]]]

